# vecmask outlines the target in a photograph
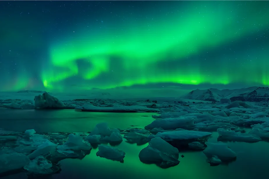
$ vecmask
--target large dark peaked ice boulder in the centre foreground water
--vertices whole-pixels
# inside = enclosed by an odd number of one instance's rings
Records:
[[[156,164],[161,168],[169,168],[179,164],[178,149],[160,137],[151,139],[149,145],[139,153],[139,159],[146,164]]]

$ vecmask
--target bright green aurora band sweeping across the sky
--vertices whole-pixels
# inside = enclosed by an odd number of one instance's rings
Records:
[[[41,75],[44,87],[63,89],[60,82],[74,76],[85,79],[88,89],[148,83],[269,85],[265,51],[269,46],[250,49],[243,55],[215,56],[218,62],[213,63],[197,57],[269,27],[269,13],[253,8],[254,2],[244,2],[248,6],[224,3],[195,1],[184,13],[180,8],[170,14],[159,12],[158,16],[154,12],[139,21],[133,15],[128,22],[108,22],[104,28],[92,26],[91,30],[79,25],[72,36],[65,37],[70,33],[66,32],[60,40],[51,42],[51,68]],[[254,62],[257,53],[259,64]],[[227,58],[234,60],[228,63]],[[85,64],[83,68],[79,61]],[[120,65],[115,65],[119,61]],[[181,65],[183,62],[185,65]],[[107,80],[102,83],[103,76]]]

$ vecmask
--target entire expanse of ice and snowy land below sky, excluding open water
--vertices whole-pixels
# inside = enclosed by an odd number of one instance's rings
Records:
[[[0,174],[26,172],[38,178],[60,171],[58,162],[66,158],[91,155],[98,147],[99,157],[124,162],[121,142],[142,145],[140,161],[163,169],[180,165],[181,151],[203,151],[211,166],[229,164],[237,153],[227,141],[255,143],[269,140],[269,88],[238,90],[194,90],[182,99],[115,99],[109,94],[98,97],[59,96],[41,91],[1,93],[0,106],[13,109],[74,109],[102,112],[155,112],[155,119],[144,129],[117,129],[99,123],[90,133],[24,133],[0,130]],[[82,97],[82,96],[80,96]],[[61,99],[62,98],[62,99]],[[246,132],[245,128],[250,128]],[[218,142],[207,142],[218,132]],[[110,144],[108,146],[107,144]]]

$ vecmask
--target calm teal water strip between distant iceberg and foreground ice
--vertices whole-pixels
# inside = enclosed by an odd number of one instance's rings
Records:
[[[97,123],[107,122],[113,128],[126,129],[131,125],[144,128],[156,113],[81,112],[64,110],[0,109],[0,128],[23,132],[88,132]]]

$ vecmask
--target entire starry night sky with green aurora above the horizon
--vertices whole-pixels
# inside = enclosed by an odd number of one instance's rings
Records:
[[[268,1],[1,1],[0,16],[0,91],[269,85]]]

